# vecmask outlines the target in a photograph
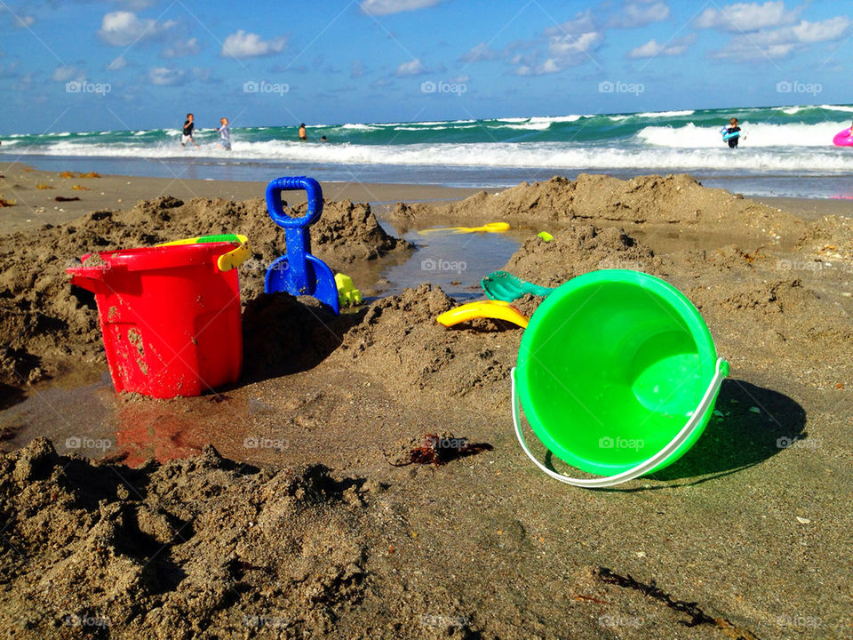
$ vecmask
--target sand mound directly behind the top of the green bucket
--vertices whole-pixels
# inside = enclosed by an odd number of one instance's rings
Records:
[[[504,269],[535,284],[559,286],[596,269],[624,268],[656,274],[662,264],[650,249],[622,229],[578,224],[557,231],[550,242],[531,236]]]

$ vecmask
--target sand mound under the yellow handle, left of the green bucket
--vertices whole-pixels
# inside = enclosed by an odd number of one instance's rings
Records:
[[[483,320],[445,328],[435,317],[455,306],[440,288],[421,284],[374,302],[347,332],[334,357],[379,376],[389,387],[460,396],[494,389],[514,366],[522,330]]]

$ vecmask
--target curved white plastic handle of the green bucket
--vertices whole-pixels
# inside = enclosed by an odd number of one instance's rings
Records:
[[[647,460],[643,460],[640,464],[638,464],[634,468],[630,468],[627,471],[623,471],[622,473],[617,474],[616,476],[604,476],[604,477],[592,477],[592,478],[575,478],[570,476],[565,476],[561,473],[557,473],[556,471],[547,468],[544,464],[539,462],[536,457],[530,452],[530,449],[527,446],[527,443],[524,442],[524,435],[522,434],[522,420],[521,420],[521,404],[518,397],[518,391],[515,388],[515,369],[513,367],[513,371],[510,372],[510,379],[512,380],[512,402],[513,402],[513,424],[515,425],[515,436],[518,437],[519,444],[522,445],[522,449],[525,453],[527,453],[530,460],[533,460],[533,464],[535,464],[541,471],[544,471],[548,476],[554,478],[554,480],[559,480],[565,484],[572,484],[574,486],[588,487],[588,488],[600,488],[613,486],[614,484],[620,484],[627,482],[628,480],[633,480],[635,477],[642,476],[645,473],[651,471],[651,469],[657,467],[661,462],[669,458],[670,455],[673,454],[682,444],[687,442],[690,436],[693,434],[693,431],[698,428],[698,426],[702,423],[702,418],[705,416],[708,409],[713,406],[713,401],[715,396],[717,395],[717,391],[720,390],[720,385],[722,384],[722,380],[725,380],[726,376],[729,372],[729,364],[723,360],[722,358],[717,358],[716,370],[713,374],[713,379],[711,383],[708,385],[708,388],[705,392],[705,396],[702,397],[702,400],[699,402],[696,411],[693,412],[693,415],[690,416],[690,420],[687,421],[687,424],[684,425],[681,431],[672,439],[672,441],[667,444],[663,449],[653,455],[651,458]]]

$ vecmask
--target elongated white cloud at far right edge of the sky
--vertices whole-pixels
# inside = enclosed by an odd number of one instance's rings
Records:
[[[761,58],[785,58],[809,44],[833,42],[845,36],[850,27],[847,16],[837,16],[819,22],[801,20],[791,27],[768,29],[750,34],[733,36],[716,58],[730,60],[756,60]]]

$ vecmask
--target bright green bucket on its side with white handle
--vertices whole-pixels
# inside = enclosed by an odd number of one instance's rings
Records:
[[[558,287],[530,318],[512,373],[515,434],[549,476],[612,486],[681,458],[728,374],[702,316],[672,284],[593,271]],[[519,401],[554,455],[604,477],[565,476],[539,462],[524,441]]]

